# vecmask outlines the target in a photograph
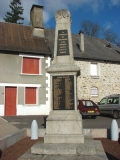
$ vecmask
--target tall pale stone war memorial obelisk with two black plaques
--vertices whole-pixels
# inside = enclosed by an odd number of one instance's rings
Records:
[[[82,118],[77,110],[77,80],[74,64],[71,17],[68,10],[55,15],[55,44],[51,80],[51,112],[47,118],[44,143],[84,143]]]

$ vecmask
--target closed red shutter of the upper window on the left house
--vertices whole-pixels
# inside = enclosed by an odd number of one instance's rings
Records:
[[[39,74],[39,58],[23,57],[23,73]]]

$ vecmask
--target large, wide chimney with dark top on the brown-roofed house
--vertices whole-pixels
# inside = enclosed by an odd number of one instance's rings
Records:
[[[30,10],[30,25],[34,36],[44,37],[43,6],[32,6]]]

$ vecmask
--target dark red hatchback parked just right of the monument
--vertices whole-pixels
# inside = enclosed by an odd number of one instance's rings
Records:
[[[99,107],[92,100],[78,100],[78,109],[83,118],[96,118],[100,114]]]

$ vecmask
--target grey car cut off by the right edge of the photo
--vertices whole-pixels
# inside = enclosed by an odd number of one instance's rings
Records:
[[[113,118],[117,119],[120,117],[120,94],[110,95],[104,97],[98,102],[100,114],[109,114]]]

